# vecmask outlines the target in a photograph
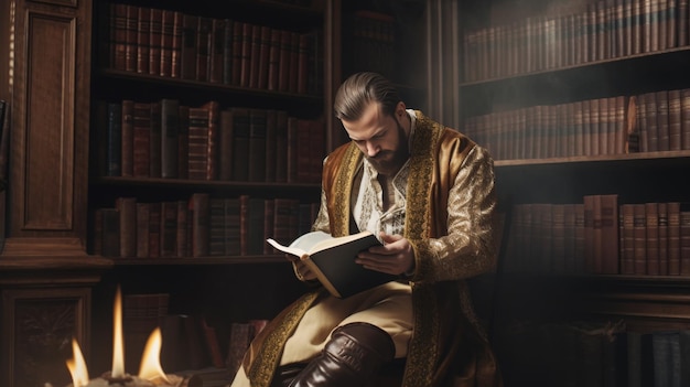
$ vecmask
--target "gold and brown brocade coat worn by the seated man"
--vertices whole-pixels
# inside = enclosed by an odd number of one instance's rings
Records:
[[[416,111],[410,148],[405,237],[414,249],[413,334],[402,386],[502,385],[465,280],[496,262],[493,160],[467,137]],[[354,143],[324,164],[331,234],[349,234],[351,191],[363,154]],[[323,290],[304,294],[255,340],[242,366],[252,386],[270,385],[282,347]]]

